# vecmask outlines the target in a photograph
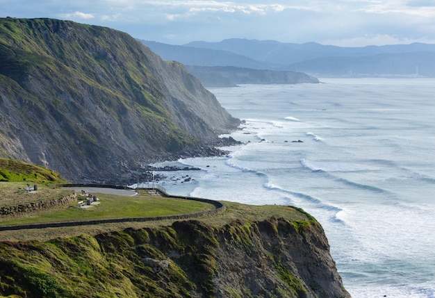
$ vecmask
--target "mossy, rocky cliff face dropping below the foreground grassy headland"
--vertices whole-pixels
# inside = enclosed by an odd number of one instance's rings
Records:
[[[350,297],[314,220],[174,222],[47,242],[0,242],[0,295]]]

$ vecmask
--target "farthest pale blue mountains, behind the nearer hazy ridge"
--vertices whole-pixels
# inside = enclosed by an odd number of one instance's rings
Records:
[[[235,38],[190,42],[185,46],[229,51],[265,63],[268,69],[313,76],[435,76],[435,44],[335,47],[315,42],[292,44]]]

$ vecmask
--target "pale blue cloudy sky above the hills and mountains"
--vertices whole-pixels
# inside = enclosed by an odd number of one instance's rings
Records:
[[[67,19],[167,44],[227,38],[340,47],[435,43],[435,0],[0,0],[0,17]]]

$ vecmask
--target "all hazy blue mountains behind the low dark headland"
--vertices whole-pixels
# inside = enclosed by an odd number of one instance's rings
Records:
[[[141,42],[163,59],[185,65],[303,72],[316,77],[435,76],[435,44],[336,47],[237,38],[183,46]]]

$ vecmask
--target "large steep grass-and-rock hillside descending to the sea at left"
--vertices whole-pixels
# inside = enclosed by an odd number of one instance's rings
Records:
[[[120,179],[238,123],[183,65],[126,33],[0,19],[0,156],[69,181]]]

